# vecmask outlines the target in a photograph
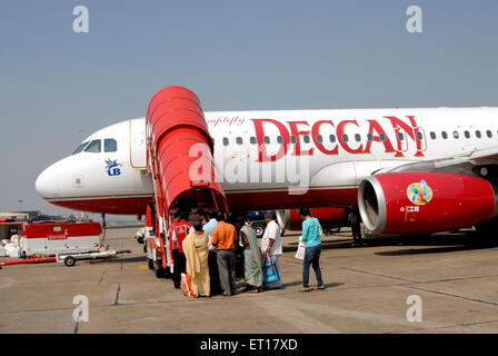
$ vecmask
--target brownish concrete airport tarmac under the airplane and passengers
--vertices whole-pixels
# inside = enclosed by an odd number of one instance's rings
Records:
[[[193,299],[147,268],[136,230],[108,229],[106,245],[131,250],[118,259],[3,267],[0,333],[498,333],[497,238],[374,237],[351,247],[343,229],[322,244],[327,289],[300,293],[299,233],[288,231],[283,289]],[[73,320],[77,295],[88,297],[89,322]],[[420,297],[421,322],[407,320],[410,296]]]

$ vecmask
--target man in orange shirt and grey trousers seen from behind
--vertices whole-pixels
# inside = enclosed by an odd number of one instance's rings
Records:
[[[223,215],[219,215],[218,224],[211,233],[212,245],[216,246],[218,270],[223,296],[235,294],[235,248],[237,231],[233,225],[225,221]]]

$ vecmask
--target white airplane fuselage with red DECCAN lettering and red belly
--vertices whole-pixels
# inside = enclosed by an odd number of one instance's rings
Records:
[[[496,147],[498,137],[498,108],[217,111],[205,118],[230,208],[249,210],[355,206],[359,181],[379,169],[470,155]],[[98,142],[89,149],[98,140],[100,149]],[[38,192],[78,210],[142,214],[153,195],[145,118],[83,142],[82,151],[38,177]]]

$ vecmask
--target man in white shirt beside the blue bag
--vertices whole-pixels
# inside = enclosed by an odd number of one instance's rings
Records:
[[[280,279],[265,285],[265,288],[276,289],[282,287],[282,275],[278,259],[282,254],[282,238],[280,226],[275,221],[275,217],[271,212],[265,215],[265,221],[267,227],[261,238],[261,263],[265,266],[266,258],[275,261]]]

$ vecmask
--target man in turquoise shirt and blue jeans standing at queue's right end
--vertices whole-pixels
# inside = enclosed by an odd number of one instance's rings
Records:
[[[309,266],[311,265],[317,276],[317,286],[313,290],[325,289],[323,281],[321,279],[320,269],[320,254],[321,254],[321,240],[320,240],[320,222],[317,218],[311,217],[311,212],[308,208],[300,208],[299,215],[305,219],[302,221],[302,241],[306,245],[305,261],[302,265],[302,288],[299,291],[310,291],[309,287]]]

